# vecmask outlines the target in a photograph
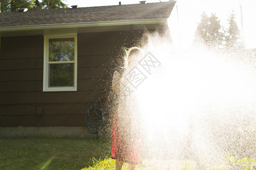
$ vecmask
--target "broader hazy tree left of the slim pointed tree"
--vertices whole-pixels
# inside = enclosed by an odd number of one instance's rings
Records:
[[[223,28],[216,14],[210,17],[203,12],[201,22],[197,26],[195,33],[195,43],[202,43],[209,48],[220,48],[224,41]]]

